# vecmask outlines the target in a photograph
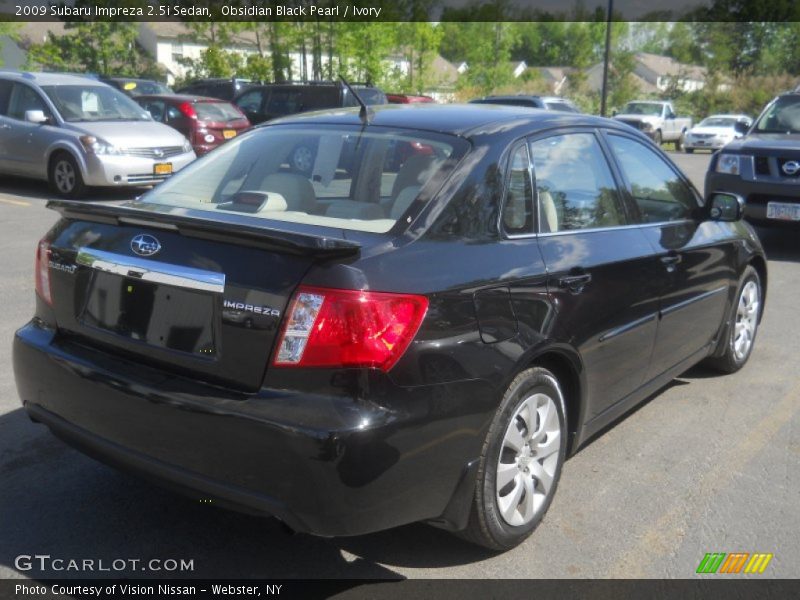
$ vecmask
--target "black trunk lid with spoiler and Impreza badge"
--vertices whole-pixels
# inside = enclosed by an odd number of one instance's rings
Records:
[[[54,201],[50,287],[64,335],[176,374],[253,391],[289,299],[346,240],[131,206]]]

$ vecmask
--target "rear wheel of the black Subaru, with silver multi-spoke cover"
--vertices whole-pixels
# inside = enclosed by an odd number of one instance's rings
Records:
[[[535,367],[508,386],[481,452],[467,528],[459,535],[504,551],[539,525],[567,449],[564,396],[553,373]]]

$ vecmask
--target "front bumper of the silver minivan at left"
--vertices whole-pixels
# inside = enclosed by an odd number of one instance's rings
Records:
[[[163,159],[137,156],[86,156],[84,183],[90,186],[115,187],[155,185],[166,180],[169,175],[156,175],[155,165],[170,163],[172,172],[177,173],[196,158],[194,152],[169,156]]]

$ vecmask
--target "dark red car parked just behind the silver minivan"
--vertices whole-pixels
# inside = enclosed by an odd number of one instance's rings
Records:
[[[137,96],[134,98],[156,121],[180,131],[200,156],[250,127],[237,106],[204,96]]]

